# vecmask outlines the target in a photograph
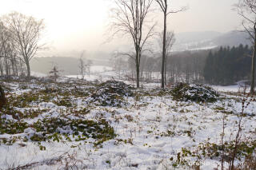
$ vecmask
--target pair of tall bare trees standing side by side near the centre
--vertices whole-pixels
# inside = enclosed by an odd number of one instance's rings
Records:
[[[148,22],[148,16],[152,12],[153,4],[159,6],[159,9],[163,14],[163,32],[162,32],[162,88],[165,86],[165,67],[166,67],[166,50],[167,50],[167,17],[170,14],[178,13],[185,10],[170,10],[169,0],[114,0],[114,8],[112,9],[112,22],[110,24],[110,30],[114,33],[111,35],[114,37],[116,34],[128,35],[134,45],[134,52],[126,53],[134,60],[136,70],[136,83],[139,87],[140,75],[141,75],[141,61],[142,55],[147,51],[147,43],[149,39],[155,35],[154,27],[156,23]]]

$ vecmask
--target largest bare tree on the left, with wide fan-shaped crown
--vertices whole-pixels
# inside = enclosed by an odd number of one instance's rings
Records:
[[[30,77],[30,60],[45,46],[39,44],[42,30],[45,28],[43,20],[37,20],[17,12],[6,15],[4,19],[6,27],[14,39],[18,57],[26,64],[27,76]]]

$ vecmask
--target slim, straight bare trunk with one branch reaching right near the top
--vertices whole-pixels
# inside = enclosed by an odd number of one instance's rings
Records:
[[[169,10],[168,0],[155,0],[163,13],[163,36],[162,36],[162,81],[161,86],[165,88],[165,65],[166,65],[166,31],[167,31],[167,17],[169,14],[178,13],[186,10],[186,7],[182,7],[180,10]],[[168,3],[169,2],[169,3]]]

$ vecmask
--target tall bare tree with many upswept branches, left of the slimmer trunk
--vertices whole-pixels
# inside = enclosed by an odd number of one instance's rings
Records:
[[[114,0],[115,7],[111,10],[110,30],[116,34],[129,35],[135,49],[136,80],[139,88],[140,62],[142,49],[149,38],[154,35],[154,26],[146,26],[146,17],[150,13],[150,6],[154,0]],[[148,30],[146,31],[146,27]],[[146,34],[144,33],[146,32]]]

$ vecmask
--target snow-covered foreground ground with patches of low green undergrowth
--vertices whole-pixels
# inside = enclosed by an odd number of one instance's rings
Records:
[[[123,86],[124,96],[109,97],[104,85],[59,81],[3,83],[13,108],[0,113],[0,169],[219,169],[223,117],[228,148],[242,113],[237,93],[176,101]],[[254,150],[256,102],[246,105],[242,139]]]

